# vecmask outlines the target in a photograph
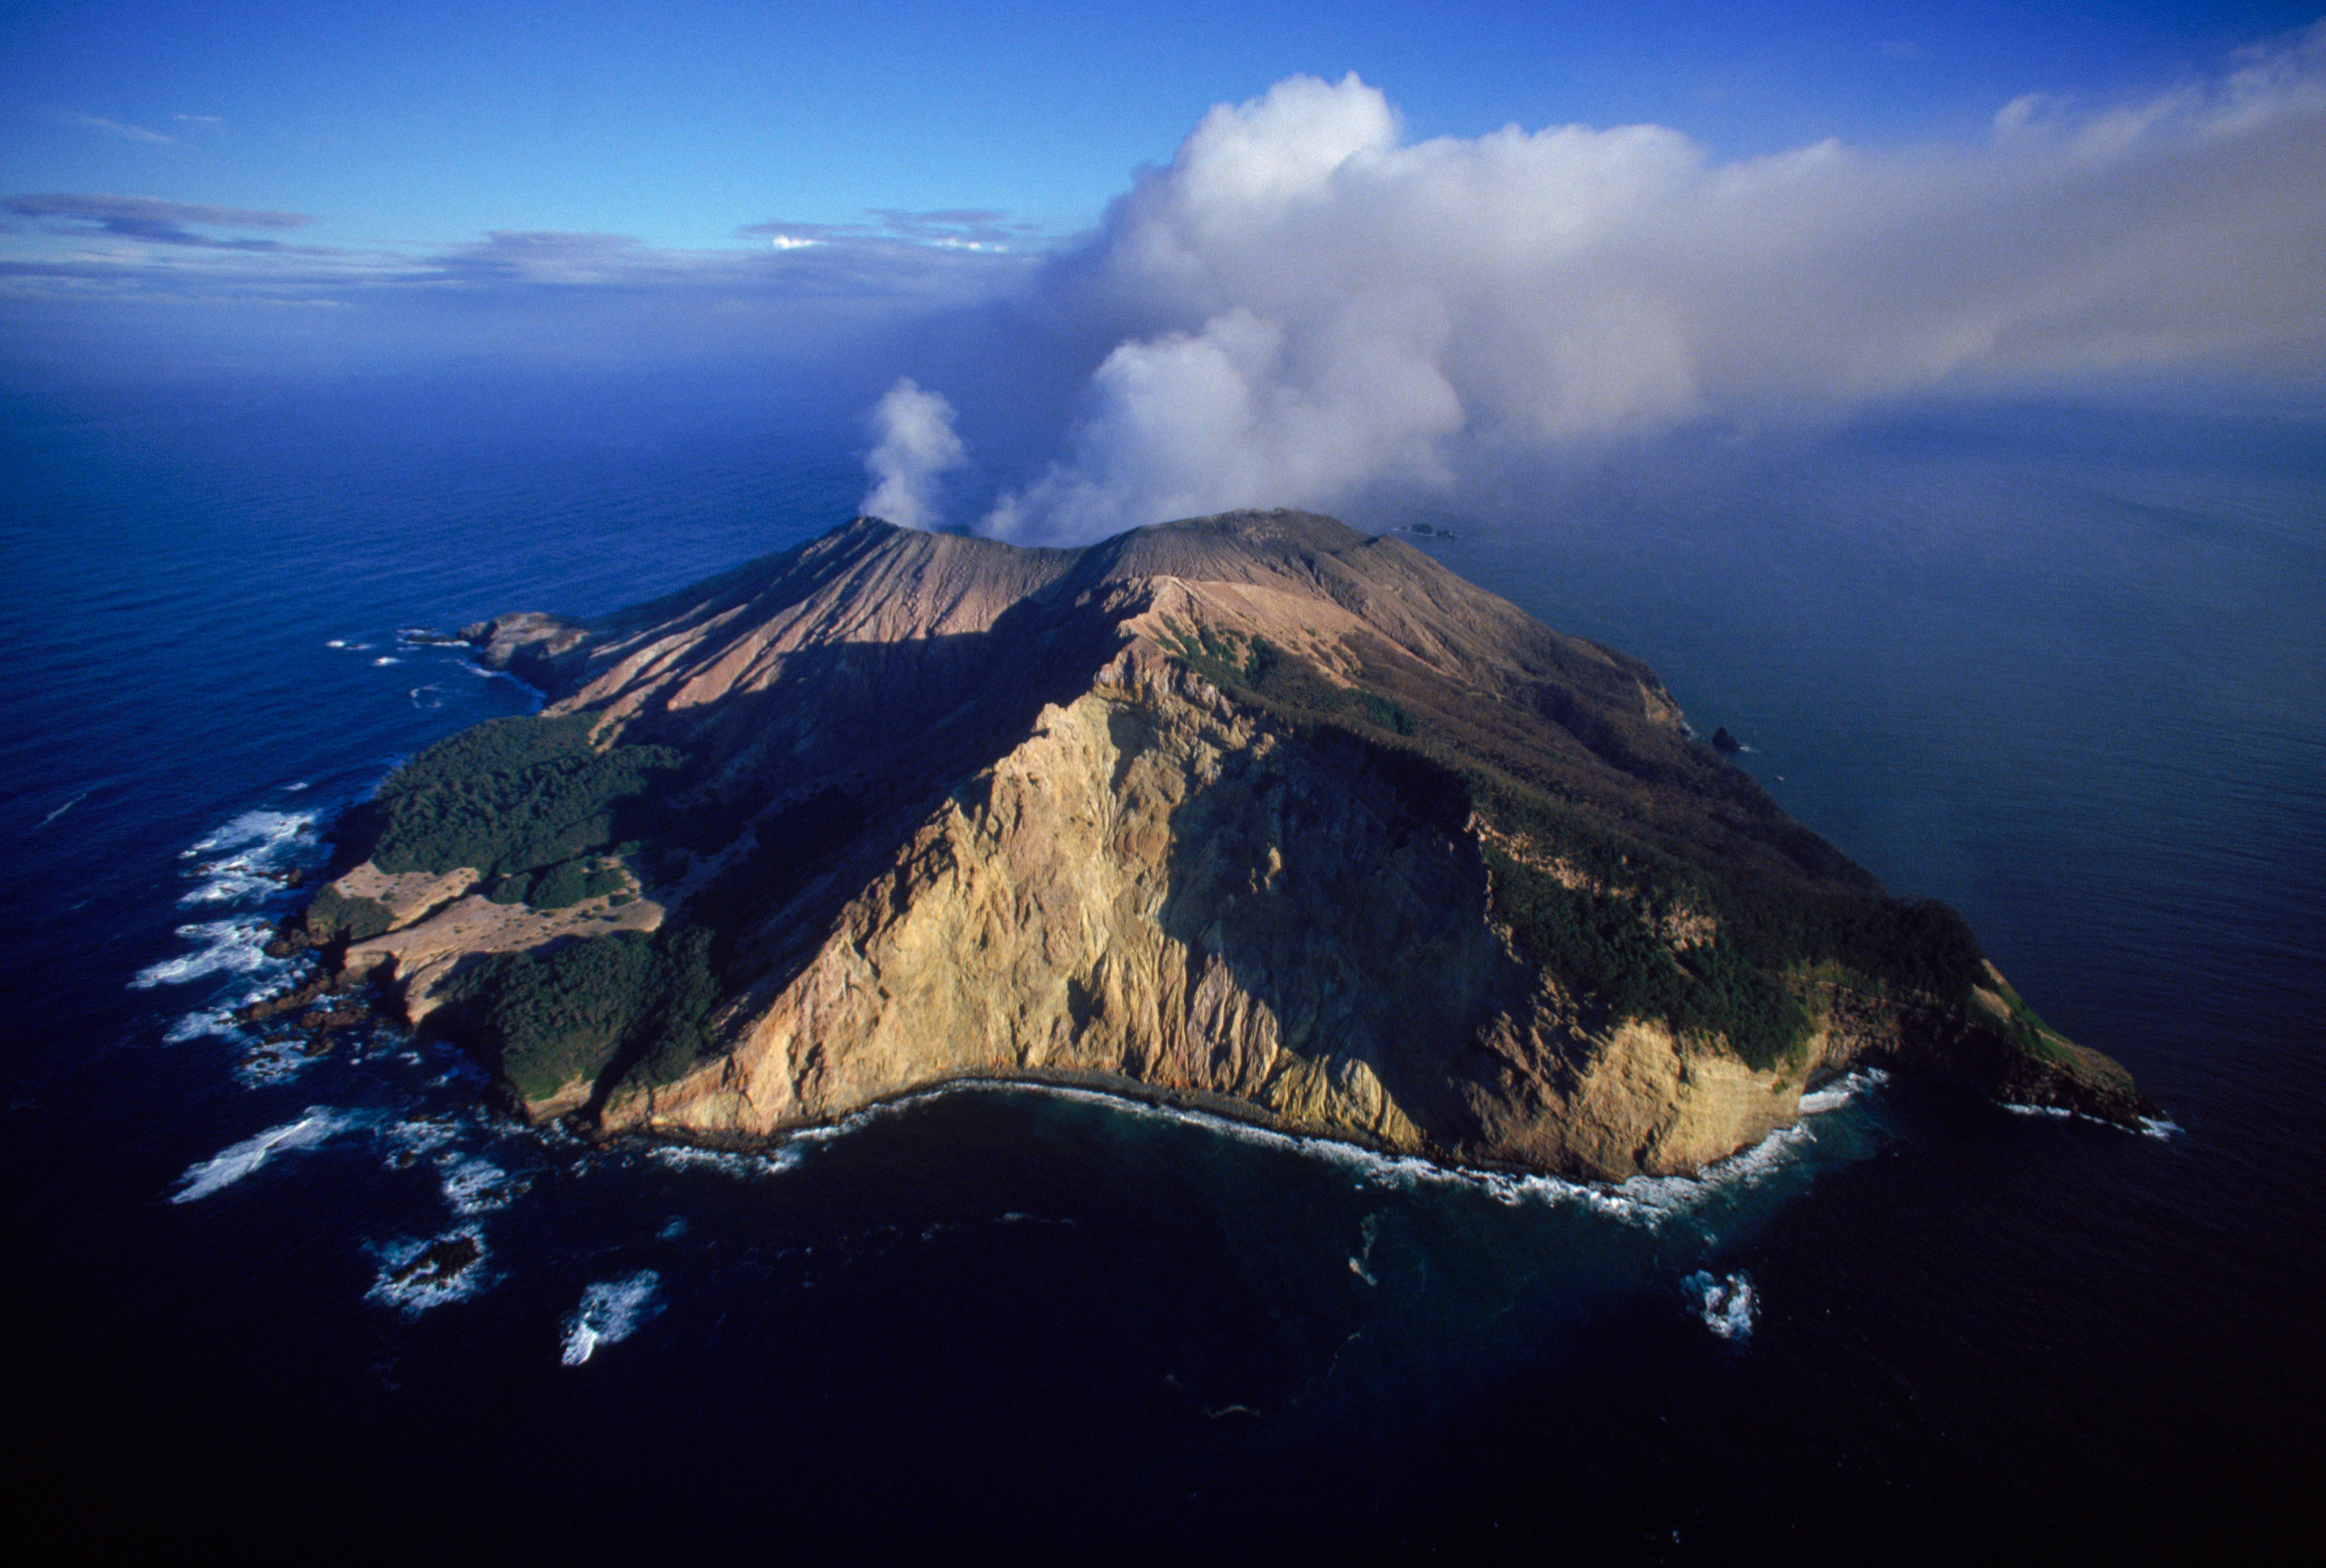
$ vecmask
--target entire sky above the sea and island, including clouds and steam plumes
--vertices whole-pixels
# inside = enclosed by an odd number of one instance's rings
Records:
[[[0,377],[726,365],[858,409],[900,521],[977,465],[951,521],[1068,537],[1903,398],[2326,384],[2305,7],[0,0]]]

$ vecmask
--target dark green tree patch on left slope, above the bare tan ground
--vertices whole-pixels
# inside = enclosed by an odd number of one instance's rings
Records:
[[[593,724],[591,714],[488,719],[428,747],[365,810],[370,858],[386,872],[470,865],[516,877],[605,849],[684,758],[672,747],[600,751]]]

